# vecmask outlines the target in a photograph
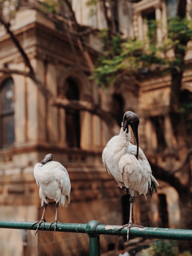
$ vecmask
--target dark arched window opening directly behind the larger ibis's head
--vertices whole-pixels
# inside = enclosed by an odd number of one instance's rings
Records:
[[[124,101],[121,95],[114,94],[113,102],[112,102],[112,114],[120,127],[121,127],[123,114],[124,114],[123,107],[124,107]]]

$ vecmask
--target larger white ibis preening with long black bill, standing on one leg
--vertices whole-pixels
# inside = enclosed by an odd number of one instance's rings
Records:
[[[146,156],[139,148],[138,124],[139,118],[135,113],[125,112],[119,135],[109,140],[102,154],[103,165],[108,174],[117,181],[120,188],[124,188],[130,195],[129,223],[119,229],[128,227],[127,240],[131,227],[143,227],[133,224],[132,221],[135,191],[138,191],[139,195],[152,194],[157,192],[156,184],[159,185],[151,173],[151,167]],[[131,143],[128,125],[132,128],[137,146]]]

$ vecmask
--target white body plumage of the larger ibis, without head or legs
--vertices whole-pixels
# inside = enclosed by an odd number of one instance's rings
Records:
[[[105,169],[112,176],[119,186],[129,189],[130,195],[134,196],[134,191],[139,195],[148,193],[151,187],[151,180],[154,177],[151,167],[141,148],[138,152],[138,160],[135,157],[137,147],[131,144],[131,133],[127,129],[109,140],[103,150],[102,160]]]

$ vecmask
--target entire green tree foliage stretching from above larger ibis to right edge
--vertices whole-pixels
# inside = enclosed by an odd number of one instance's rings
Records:
[[[141,41],[138,39],[121,39],[120,34],[115,35],[106,50],[104,31],[102,39],[104,52],[98,59],[92,78],[99,85],[117,81],[121,74],[139,75],[154,71],[154,67],[165,69],[183,69],[183,56],[187,48],[187,42],[192,38],[192,22],[186,18],[174,17],[168,20],[167,37],[157,44],[157,23],[151,20],[149,23],[148,37]],[[165,58],[166,53],[173,49],[176,53],[171,58]]]

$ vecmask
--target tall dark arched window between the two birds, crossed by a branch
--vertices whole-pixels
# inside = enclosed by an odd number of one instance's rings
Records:
[[[79,90],[74,79],[65,81],[65,96],[69,100],[79,99]],[[66,133],[69,147],[80,147],[80,118],[78,110],[66,110]]]

